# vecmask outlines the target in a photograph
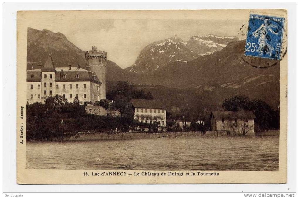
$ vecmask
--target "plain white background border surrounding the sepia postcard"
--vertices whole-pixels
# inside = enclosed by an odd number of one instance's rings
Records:
[[[296,27],[292,4],[4,4],[3,7],[3,177],[4,191],[295,191],[295,31],[288,31],[288,175],[280,185],[17,185],[16,184],[16,11],[17,10],[138,10],[138,9],[287,9],[288,29]],[[297,82],[296,82],[297,84]],[[293,132],[293,133],[291,133]],[[38,190],[37,190],[38,189]],[[289,189],[289,190],[288,190]]]

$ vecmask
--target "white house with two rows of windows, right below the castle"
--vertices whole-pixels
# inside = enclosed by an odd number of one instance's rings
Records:
[[[134,107],[134,118],[141,123],[166,127],[166,107],[159,100],[131,99],[129,105]]]

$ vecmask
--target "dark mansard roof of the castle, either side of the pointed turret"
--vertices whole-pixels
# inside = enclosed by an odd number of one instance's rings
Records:
[[[42,72],[45,71],[42,69],[27,70],[27,82],[41,82]],[[48,71],[48,70],[46,70]],[[78,68],[78,67],[56,67],[55,73],[55,82],[82,82],[90,81],[97,84],[102,84],[99,78],[94,72]],[[76,78],[76,75],[79,75],[79,78]],[[63,76],[65,75],[65,76]],[[65,77],[65,78],[64,78]],[[95,78],[94,78],[95,77]]]

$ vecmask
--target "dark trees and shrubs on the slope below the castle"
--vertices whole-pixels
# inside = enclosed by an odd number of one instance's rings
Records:
[[[109,101],[101,100],[97,105],[108,109]],[[45,103],[27,104],[28,140],[60,140],[78,131],[128,131],[129,126],[138,125],[133,116],[111,117],[85,113],[78,98],[68,102],[62,96],[47,97]]]

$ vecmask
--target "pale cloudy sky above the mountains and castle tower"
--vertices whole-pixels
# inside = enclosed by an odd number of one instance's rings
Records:
[[[120,19],[119,19],[120,18]],[[142,18],[142,17],[141,17]],[[144,18],[144,17],[143,17]],[[244,20],[240,19],[93,19],[83,17],[56,16],[40,18],[28,27],[63,33],[67,39],[83,51],[107,52],[107,59],[120,67],[131,66],[141,50],[148,44],[177,36],[184,41],[191,36],[213,34],[238,36]],[[243,38],[245,39],[245,38]]]

